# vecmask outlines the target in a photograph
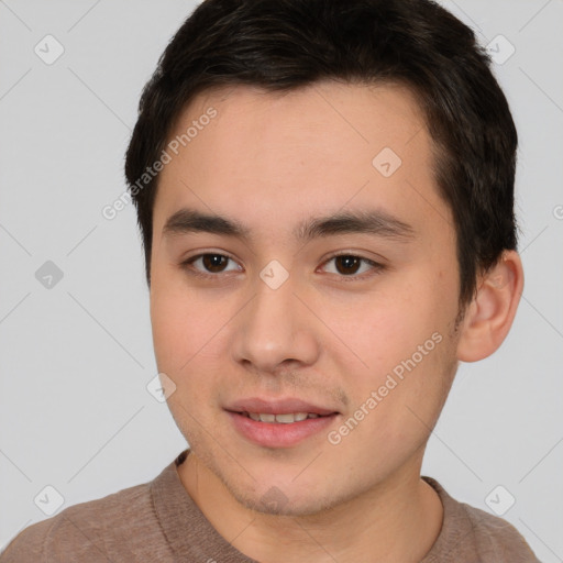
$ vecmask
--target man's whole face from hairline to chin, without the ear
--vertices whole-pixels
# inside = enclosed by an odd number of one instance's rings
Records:
[[[413,97],[234,87],[196,98],[181,134],[154,206],[151,317],[194,455],[276,514],[418,478],[456,368],[460,285]]]

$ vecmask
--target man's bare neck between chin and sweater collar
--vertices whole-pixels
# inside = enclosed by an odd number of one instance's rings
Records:
[[[242,506],[194,452],[178,474],[213,528],[262,563],[417,563],[430,551],[443,518],[438,494],[420,478],[418,457],[413,467],[401,468],[355,498],[299,517]]]

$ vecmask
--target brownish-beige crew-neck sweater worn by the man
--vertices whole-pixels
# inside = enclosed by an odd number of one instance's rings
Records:
[[[206,519],[176,471],[183,452],[150,483],[81,503],[23,530],[0,563],[257,563]],[[422,477],[444,507],[442,529],[421,563],[539,563],[516,528],[459,503]]]

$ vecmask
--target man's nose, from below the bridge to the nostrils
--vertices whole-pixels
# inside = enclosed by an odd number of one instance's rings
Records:
[[[318,321],[295,295],[291,276],[277,289],[257,277],[254,296],[236,316],[233,356],[257,373],[286,364],[313,364],[320,353]],[[312,307],[314,309],[314,307]]]

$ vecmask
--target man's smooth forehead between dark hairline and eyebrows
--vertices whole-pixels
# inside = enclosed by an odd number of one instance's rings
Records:
[[[378,207],[410,224],[449,213],[423,114],[399,85],[206,91],[179,115],[168,146],[174,142],[177,154],[169,151],[158,181],[155,229],[184,206],[263,228],[305,220],[313,208]]]

